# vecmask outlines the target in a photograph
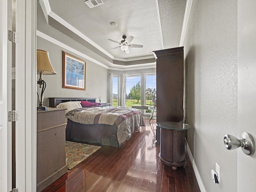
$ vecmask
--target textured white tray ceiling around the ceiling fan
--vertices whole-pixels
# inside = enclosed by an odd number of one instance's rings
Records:
[[[91,50],[99,56],[112,58],[113,62],[154,58],[150,52],[179,46],[186,7],[186,0],[102,0],[104,4],[94,8],[89,8],[84,0],[40,1],[47,2],[54,13],[49,25],[68,36],[75,33],[79,38],[74,40],[84,46],[91,44]],[[112,21],[118,26],[110,26]],[[63,22],[78,32],[56,24],[64,25]],[[83,34],[82,41],[78,40],[81,39],[79,34]],[[108,39],[120,42],[124,34],[134,36],[131,44],[141,44],[143,48],[129,48],[129,54],[120,48],[110,50],[119,44]]]

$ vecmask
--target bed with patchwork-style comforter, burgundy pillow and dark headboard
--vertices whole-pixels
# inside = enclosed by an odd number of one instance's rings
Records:
[[[66,108],[66,140],[120,147],[145,126],[140,110],[96,103],[96,98],[49,98]]]

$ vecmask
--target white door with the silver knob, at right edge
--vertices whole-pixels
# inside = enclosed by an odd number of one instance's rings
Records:
[[[255,0],[238,0],[238,137],[249,132],[256,141],[255,8]],[[256,191],[256,154],[238,149],[237,175],[238,192]]]

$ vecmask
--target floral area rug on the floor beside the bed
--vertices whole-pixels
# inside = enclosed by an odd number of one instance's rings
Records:
[[[68,166],[68,170],[77,166],[99,148],[101,147],[66,141],[66,165]]]

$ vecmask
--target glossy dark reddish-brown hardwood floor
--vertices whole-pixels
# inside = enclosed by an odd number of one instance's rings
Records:
[[[102,146],[43,192],[200,192],[192,165],[173,171],[155,146],[156,120],[119,148]]]

